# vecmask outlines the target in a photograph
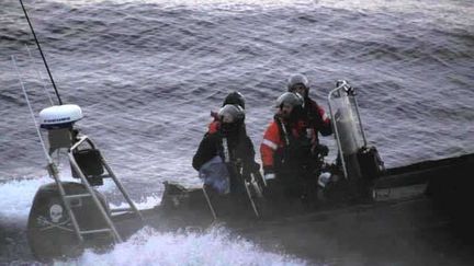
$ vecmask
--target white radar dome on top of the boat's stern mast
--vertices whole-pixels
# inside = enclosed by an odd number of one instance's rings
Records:
[[[82,109],[76,104],[54,105],[40,112],[42,128],[66,127],[82,117]]]

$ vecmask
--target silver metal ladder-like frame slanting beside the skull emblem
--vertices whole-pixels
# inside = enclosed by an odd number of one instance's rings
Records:
[[[87,193],[83,194],[76,194],[76,195],[67,195],[66,190],[59,180],[59,175],[57,174],[57,171],[54,169],[53,164],[49,164],[49,173],[50,175],[54,177],[58,188],[59,188],[59,195],[60,198],[64,203],[64,206],[71,219],[72,222],[72,227],[75,230],[75,233],[79,240],[80,243],[83,243],[84,239],[83,235],[86,234],[95,234],[95,233],[109,233],[113,236],[114,243],[121,243],[123,240],[121,238],[121,235],[119,234],[111,217],[108,215],[106,210],[104,209],[104,207],[102,206],[101,201],[99,200],[98,196],[95,195],[92,186],[90,185],[89,181],[87,180],[86,175],[83,174],[82,170],[79,167],[79,164],[76,162],[76,159],[72,154],[72,152],[79,148],[80,144],[82,143],[89,143],[89,146],[92,149],[95,149],[95,144],[92,142],[92,140],[88,137],[88,136],[81,136],[79,138],[79,140],[69,149],[68,151],[68,157],[69,157],[69,163],[72,166],[72,169],[76,171],[76,173],[79,175],[79,178],[81,180],[81,183],[86,186]],[[113,212],[124,212],[124,211],[131,211],[134,212],[139,219],[140,221],[144,221],[144,218],[142,216],[142,212],[136,208],[135,204],[132,201],[132,199],[129,198],[128,194],[126,193],[125,188],[122,186],[122,183],[116,178],[115,174],[112,172],[112,169],[109,166],[109,164],[106,163],[105,159],[102,157],[102,154],[99,152],[100,158],[101,158],[101,163],[102,165],[105,167],[105,170],[108,171],[106,175],[102,175],[100,177],[104,178],[104,177],[110,177],[113,180],[113,182],[115,183],[115,185],[117,186],[117,188],[121,190],[122,195],[124,196],[124,198],[126,199],[126,201],[128,203],[129,207],[128,208],[116,208],[116,209],[112,209],[111,213]],[[76,216],[72,211],[71,205],[70,205],[70,200],[71,199],[76,199],[76,198],[83,198],[83,197],[91,197],[95,207],[99,209],[99,211],[101,212],[101,216],[103,217],[105,223],[106,223],[106,228],[102,228],[102,229],[94,229],[94,230],[81,230],[79,228],[79,223],[77,222]]]

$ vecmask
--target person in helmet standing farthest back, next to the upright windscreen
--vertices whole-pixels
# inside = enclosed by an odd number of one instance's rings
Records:
[[[309,130],[314,149],[323,149],[319,146],[318,132],[323,136],[332,134],[329,116],[324,108],[309,97],[309,81],[304,74],[293,74],[287,80],[287,91],[296,92],[304,99],[304,122]],[[324,149],[327,152],[327,149]]]

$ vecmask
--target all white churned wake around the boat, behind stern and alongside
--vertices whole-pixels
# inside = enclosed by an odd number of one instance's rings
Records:
[[[64,178],[72,181],[72,177]],[[8,231],[26,231],[29,212],[36,190],[40,186],[52,183],[47,176],[38,178],[11,180],[0,184],[0,220]],[[113,186],[104,183],[101,193],[114,194]],[[160,203],[160,196],[148,196],[136,203],[138,209],[151,208]],[[125,203],[111,204],[121,208]],[[11,243],[22,243],[21,232],[10,235]],[[9,242],[9,243],[10,243]],[[20,245],[24,251],[14,250],[10,254],[12,261],[25,257],[26,245]],[[1,246],[0,246],[1,247]],[[5,248],[7,251],[8,248]],[[13,251],[12,251],[13,252]],[[7,254],[8,255],[8,254]],[[10,261],[11,262],[11,261]],[[31,263],[31,262],[29,262]],[[80,257],[58,265],[305,265],[306,262],[289,255],[262,251],[257,244],[245,239],[232,236],[225,228],[212,228],[205,232],[179,231],[161,233],[151,228],[144,228],[132,235],[126,242],[117,244],[106,253],[87,250]]]

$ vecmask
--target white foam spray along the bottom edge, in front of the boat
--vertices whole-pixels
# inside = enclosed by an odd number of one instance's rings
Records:
[[[222,228],[205,233],[160,233],[144,228],[105,254],[86,251],[77,259],[57,265],[305,265],[306,262],[266,252],[233,238]]]

